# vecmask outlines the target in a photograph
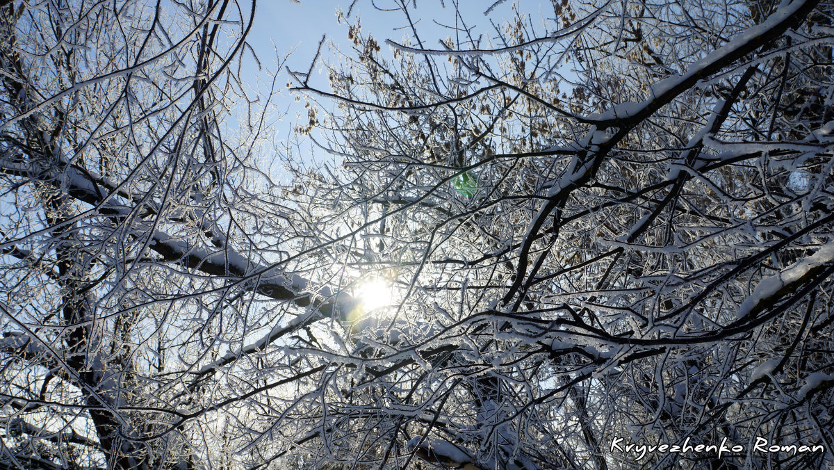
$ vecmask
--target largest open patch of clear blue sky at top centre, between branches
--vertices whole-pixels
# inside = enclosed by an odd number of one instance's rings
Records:
[[[450,0],[407,0],[409,14],[417,23],[417,30],[420,39],[427,48],[438,48],[439,40],[445,39],[453,34],[449,28],[440,24],[455,24],[455,2]],[[530,13],[532,23],[539,23],[541,15],[552,16],[553,9],[549,2],[543,0],[512,0],[500,3],[490,11],[489,17],[485,16],[485,10],[490,8],[494,2],[484,0],[459,0],[460,12],[465,19],[466,26],[473,28],[476,34],[484,34],[485,38],[494,38],[495,29],[492,23],[500,25],[505,23],[506,18],[514,14],[513,7],[519,3],[520,10]],[[257,53],[262,68],[259,70],[251,59],[251,54],[244,54],[244,66],[242,78],[246,81],[252,92],[250,97],[259,93],[264,96],[269,93],[270,86],[275,78],[275,89],[278,93],[272,99],[274,108],[269,114],[267,125],[274,133],[276,142],[273,149],[264,151],[264,158],[271,159],[270,155],[285,154],[288,150],[284,143],[291,138],[291,130],[294,124],[301,118],[302,123],[307,121],[307,110],[304,109],[305,100],[296,101],[296,96],[289,93],[286,88],[289,82],[289,75],[285,68],[290,70],[307,72],[310,61],[314,58],[316,48],[323,34],[326,34],[329,41],[336,43],[343,51],[349,52],[350,42],[347,34],[348,28],[339,24],[336,17],[337,9],[345,14],[351,4],[351,0],[258,0],[254,24],[249,34],[249,44]],[[414,5],[416,4],[416,8]],[[375,7],[377,8],[374,8]],[[403,42],[404,36],[411,36],[410,28],[404,14],[400,11],[380,11],[379,8],[394,9],[397,7],[396,0],[357,0],[351,13],[350,21],[360,18],[362,33],[372,35],[382,46],[382,53],[390,56],[392,52],[384,44],[385,39],[393,39],[399,43]],[[540,18],[535,18],[536,14]],[[490,23],[490,21],[492,23]],[[440,24],[439,24],[440,23]],[[289,58],[288,53],[293,51]],[[327,59],[326,53],[324,60]],[[284,62],[286,61],[286,62]],[[283,63],[284,67],[279,69],[278,64]],[[314,68],[314,74],[310,83],[319,88],[329,88],[326,76],[320,76],[323,68]],[[261,102],[263,104],[263,101]],[[319,101],[319,104],[329,106],[326,101]],[[315,130],[313,131],[316,134]],[[326,154],[323,149],[314,145],[310,139],[299,143],[301,147],[293,150],[293,154],[299,155],[305,163],[320,164],[324,161],[333,160],[334,156]],[[277,179],[284,179],[284,171],[279,161],[274,159],[272,163],[263,162],[269,166],[266,169]],[[282,176],[284,175],[284,176]]]

